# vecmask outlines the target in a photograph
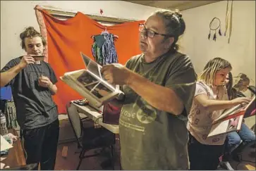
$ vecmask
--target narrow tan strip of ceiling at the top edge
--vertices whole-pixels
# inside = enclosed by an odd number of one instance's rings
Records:
[[[169,10],[178,9],[183,11],[190,8],[195,8],[198,6],[204,6],[207,4],[212,4],[218,1],[128,1],[134,4],[141,4],[145,6],[152,6],[156,8],[164,8]]]

